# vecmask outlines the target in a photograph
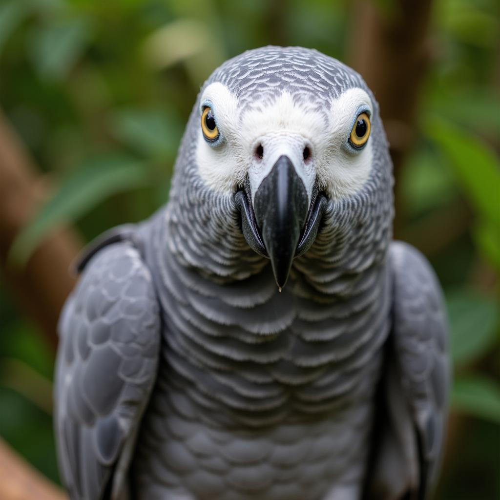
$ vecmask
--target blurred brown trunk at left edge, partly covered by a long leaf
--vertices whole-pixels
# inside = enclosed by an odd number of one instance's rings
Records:
[[[51,233],[26,266],[7,266],[10,244],[44,198],[40,176],[0,111],[0,270],[19,309],[44,332],[55,351],[60,308],[74,285],[69,264],[81,247],[72,229]]]

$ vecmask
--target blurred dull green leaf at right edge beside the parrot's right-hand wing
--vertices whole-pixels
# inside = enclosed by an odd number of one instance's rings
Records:
[[[469,290],[447,293],[446,302],[453,362],[470,362],[484,354],[496,340],[496,302]]]

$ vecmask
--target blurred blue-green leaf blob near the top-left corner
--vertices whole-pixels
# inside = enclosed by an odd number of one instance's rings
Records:
[[[31,40],[31,58],[45,78],[66,76],[90,38],[91,25],[85,18],[59,21],[38,28]]]

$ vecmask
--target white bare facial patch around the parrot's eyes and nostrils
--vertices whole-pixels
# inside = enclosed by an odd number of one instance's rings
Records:
[[[270,103],[257,99],[242,110],[237,98],[218,82],[205,89],[200,102],[212,108],[221,134],[220,143],[209,144],[200,126],[197,139],[199,173],[214,190],[232,193],[248,174],[253,200],[281,155],[293,163],[309,202],[316,176],[321,189],[334,199],[354,194],[369,176],[371,140],[359,151],[347,144],[359,112],[372,112],[371,100],[360,88],[343,92],[327,112],[318,102],[293,101],[287,92]],[[262,158],[257,154],[259,145]],[[305,147],[310,154],[304,160]]]

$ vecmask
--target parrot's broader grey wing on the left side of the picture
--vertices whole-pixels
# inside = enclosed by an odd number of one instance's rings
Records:
[[[72,500],[114,498],[123,487],[156,377],[159,317],[151,275],[130,242],[101,248],[64,305],[55,433]]]

